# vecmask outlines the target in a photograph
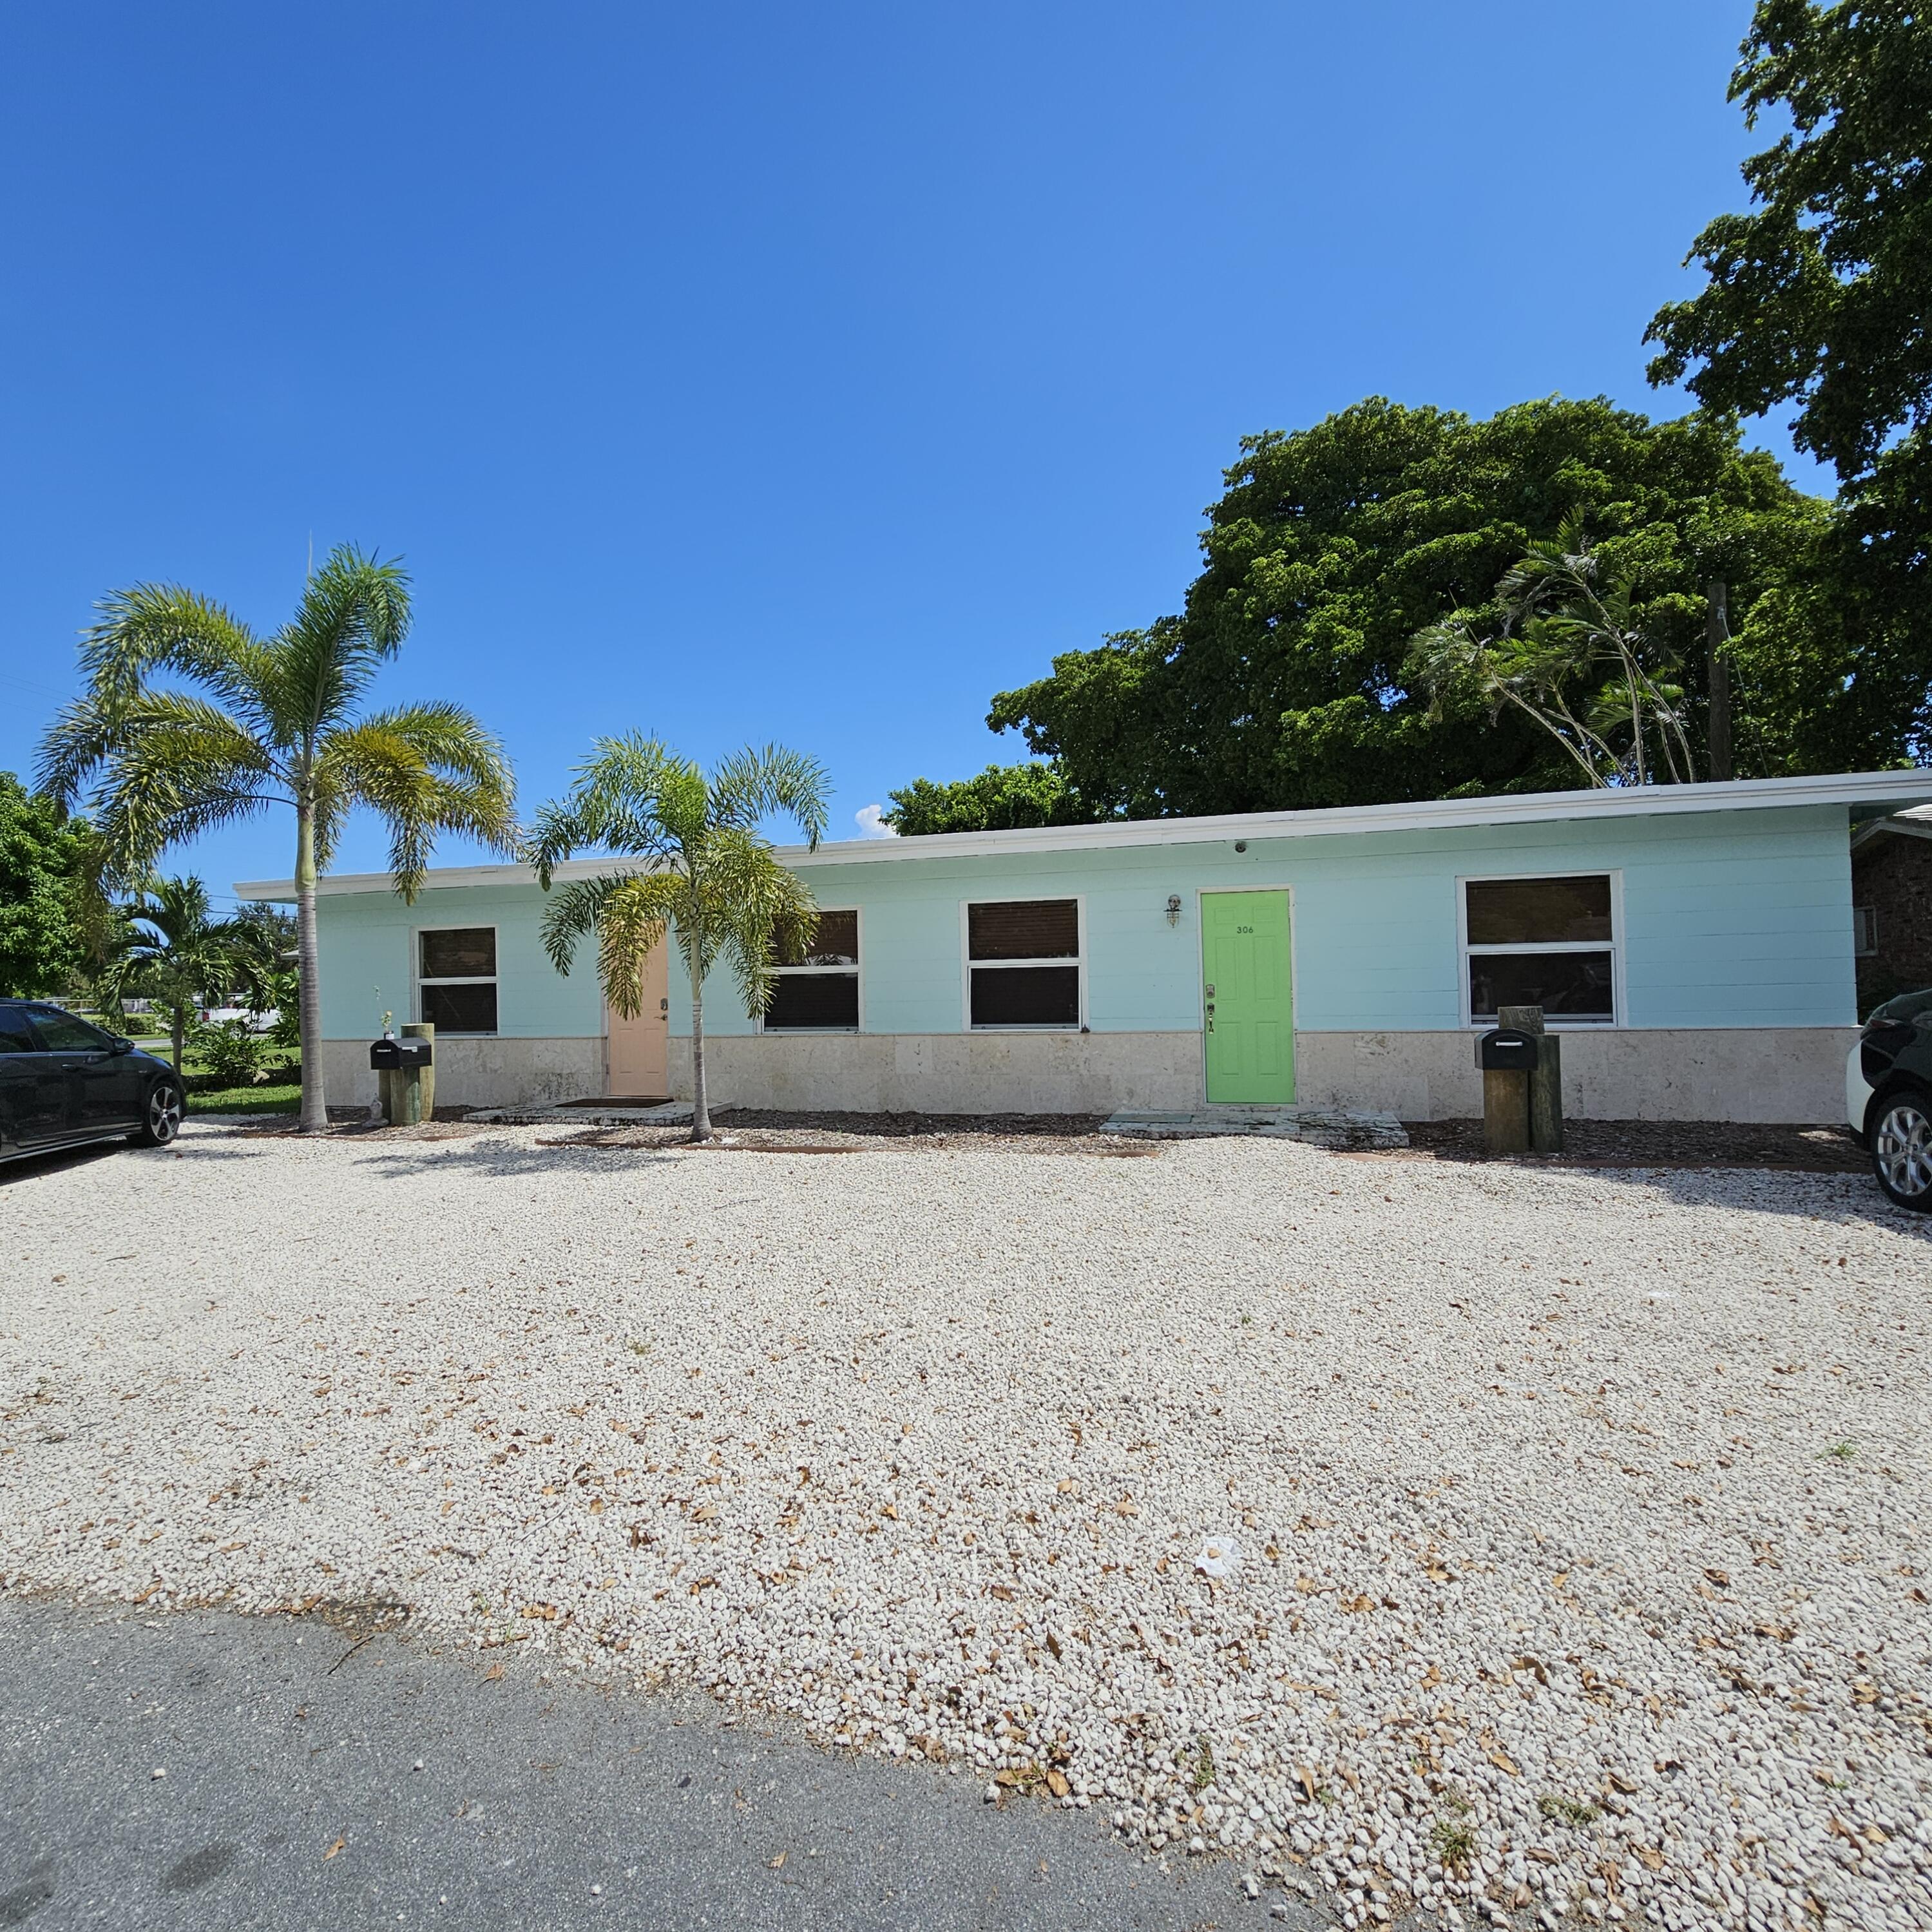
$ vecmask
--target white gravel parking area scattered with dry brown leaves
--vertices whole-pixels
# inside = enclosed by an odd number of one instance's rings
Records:
[[[0,1582],[402,1602],[1349,1922],[1932,1922],[1864,1180],[543,1138],[0,1179]]]

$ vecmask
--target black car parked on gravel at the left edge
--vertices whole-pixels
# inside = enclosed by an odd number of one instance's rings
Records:
[[[0,1161],[89,1140],[164,1148],[180,1130],[166,1061],[58,1007],[0,999]]]

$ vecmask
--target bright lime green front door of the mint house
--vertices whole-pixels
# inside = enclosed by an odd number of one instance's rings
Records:
[[[1287,893],[1202,895],[1208,1099],[1294,1099],[1294,987]]]

